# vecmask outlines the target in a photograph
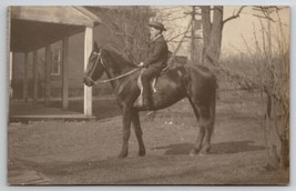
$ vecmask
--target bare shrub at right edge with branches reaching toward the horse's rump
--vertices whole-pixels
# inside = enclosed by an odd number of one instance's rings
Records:
[[[239,89],[259,91],[263,117],[261,124],[267,151],[266,167],[286,170],[289,167],[289,41],[279,11],[287,8],[253,9],[261,27],[257,32],[254,27],[254,44],[243,38],[247,53],[239,60],[246,63],[245,68],[249,68],[248,76],[245,74],[245,69],[244,72],[242,69],[235,71],[222,64],[213,68],[232,79]]]

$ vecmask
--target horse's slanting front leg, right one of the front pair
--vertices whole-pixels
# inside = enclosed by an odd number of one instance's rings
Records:
[[[141,128],[141,123],[140,123],[140,118],[139,118],[139,112],[133,110],[132,112],[132,123],[133,123],[133,128],[134,128],[134,133],[135,137],[137,139],[137,143],[139,143],[139,155],[145,155],[146,151],[145,151],[145,145],[142,139],[142,128]]]

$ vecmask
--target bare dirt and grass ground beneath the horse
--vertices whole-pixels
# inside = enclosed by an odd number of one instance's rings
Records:
[[[10,123],[8,181],[13,184],[13,174],[34,171],[50,184],[286,184],[288,172],[265,168],[258,105],[254,94],[220,93],[211,153],[196,157],[188,157],[198,129],[187,100],[159,111],[154,120],[141,114],[146,147],[142,158],[133,133],[129,157],[116,158],[120,115]],[[103,105],[103,112],[110,110],[114,105]]]

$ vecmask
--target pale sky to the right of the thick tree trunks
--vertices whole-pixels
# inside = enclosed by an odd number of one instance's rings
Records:
[[[233,14],[234,10],[238,10],[239,7],[225,7],[224,17],[228,18]],[[251,7],[243,9],[239,18],[234,19],[229,22],[226,22],[223,30],[223,41],[222,41],[222,52],[224,54],[236,53],[238,50],[246,52],[246,47],[254,47],[254,34],[256,34],[259,43],[262,44],[262,24],[257,14]],[[277,20],[277,16],[273,14],[273,18]],[[289,34],[289,8],[285,8],[279,11],[279,18],[283,23],[283,30],[285,38],[288,38]],[[263,19],[263,23],[266,26],[267,20]],[[272,23],[272,37],[274,42],[277,36],[278,22]],[[244,42],[245,39],[246,43]],[[288,40],[288,39],[287,39]],[[289,40],[288,40],[289,41]]]

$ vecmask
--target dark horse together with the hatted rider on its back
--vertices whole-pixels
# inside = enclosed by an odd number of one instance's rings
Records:
[[[167,61],[167,46],[162,37],[165,28],[159,22],[152,22],[150,26],[153,37],[151,53],[144,62],[140,63],[140,67],[147,68],[142,74],[145,104],[147,108],[153,107],[152,110],[160,110],[187,98],[200,127],[200,133],[190,154],[208,153],[215,122],[216,77],[206,67],[197,63],[171,69],[159,78],[157,92],[155,96],[153,94],[153,105],[149,105],[150,101],[152,104],[150,80],[160,74]],[[126,73],[126,71],[129,72]],[[134,105],[141,93],[141,88],[137,86],[139,68],[135,68],[132,62],[114,48],[104,47],[100,49],[94,43],[84,72],[84,84],[93,87],[100,83],[98,80],[103,73],[106,73],[109,80],[101,82],[111,82],[122,110],[122,148],[119,157],[127,157],[131,124],[133,124],[139,143],[139,155],[145,155],[146,151],[139,113],[149,109]]]

